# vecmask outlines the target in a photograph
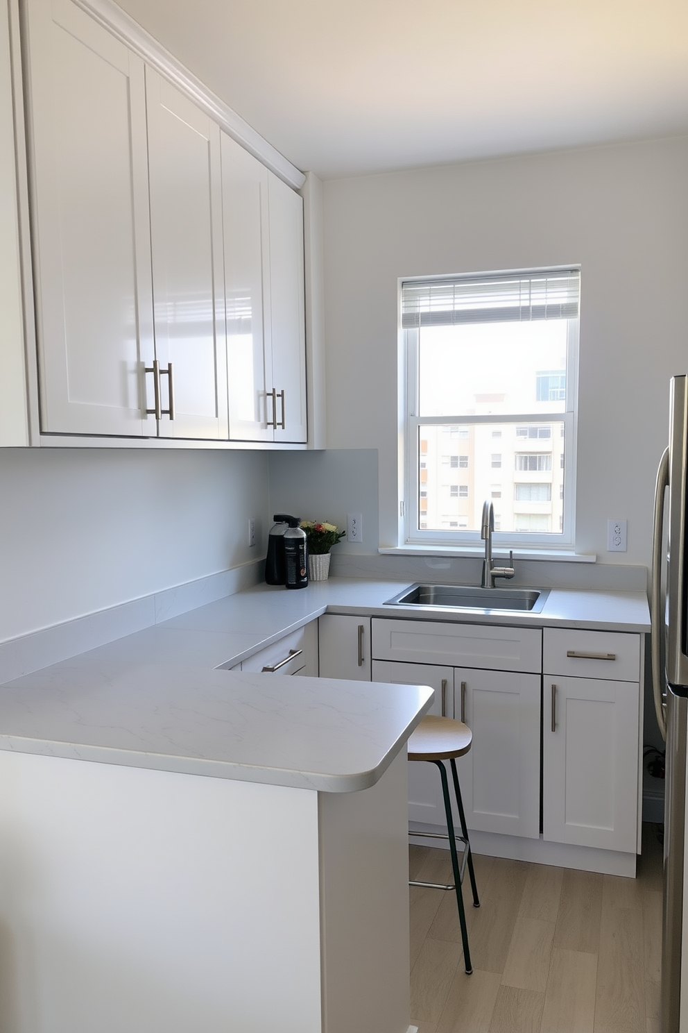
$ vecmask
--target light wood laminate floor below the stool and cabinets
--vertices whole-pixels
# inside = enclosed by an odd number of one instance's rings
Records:
[[[411,877],[451,882],[446,850],[411,847]],[[662,849],[644,826],[638,876],[476,855],[481,907],[411,887],[411,1013],[419,1033],[658,1033]]]

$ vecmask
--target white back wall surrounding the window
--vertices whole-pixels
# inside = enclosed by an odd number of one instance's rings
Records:
[[[648,564],[668,378],[688,370],[688,137],[325,183],[328,447],[379,450],[381,544],[396,543],[397,279],[568,262],[577,546]],[[626,554],[607,553],[608,518],[628,520]]]

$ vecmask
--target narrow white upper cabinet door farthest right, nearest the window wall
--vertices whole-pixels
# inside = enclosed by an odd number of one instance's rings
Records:
[[[307,433],[303,200],[270,173],[268,208],[271,377],[268,373],[267,379],[275,392],[274,440],[301,442]]]

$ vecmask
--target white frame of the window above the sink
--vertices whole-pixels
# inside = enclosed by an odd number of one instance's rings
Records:
[[[576,265],[553,267],[538,270],[513,271],[515,275],[549,274],[565,270],[578,269]],[[511,275],[512,271],[505,273],[491,273],[486,276]],[[401,299],[401,287],[404,280],[398,281],[398,296]],[[418,281],[419,277],[414,277]],[[438,282],[441,277],[427,277],[429,282]],[[447,277],[445,279],[457,279],[457,277]],[[420,520],[417,514],[419,499],[419,461],[420,461],[420,435],[421,426],[466,426],[468,433],[471,426],[484,425],[524,425],[536,424],[562,424],[564,428],[564,455],[566,474],[563,480],[564,498],[562,507],[563,530],[561,532],[494,532],[493,544],[499,549],[514,549],[527,551],[564,551],[572,552],[576,546],[576,480],[577,480],[577,432],[578,432],[578,384],[579,384],[579,338],[580,338],[580,303],[579,316],[568,318],[566,335],[566,399],[565,410],[563,412],[518,412],[504,414],[490,414],[486,416],[459,416],[455,413],[447,413],[443,416],[418,415],[418,373],[419,373],[419,341],[420,330],[418,327],[401,328],[399,320],[399,335],[402,346],[403,362],[403,392],[399,394],[399,402],[402,411],[399,413],[399,430],[401,463],[400,463],[400,488],[403,494],[400,501],[400,531],[403,535],[403,544],[406,546],[428,547],[449,547],[456,550],[483,549],[480,531],[449,531],[447,529],[421,529],[417,525]],[[553,432],[554,434],[554,432]],[[495,439],[495,443],[496,443]],[[503,456],[503,452],[502,452]],[[502,459],[503,464],[503,459]],[[496,469],[491,466],[490,469]],[[558,494],[558,493],[557,493]],[[555,498],[554,490],[552,498]]]

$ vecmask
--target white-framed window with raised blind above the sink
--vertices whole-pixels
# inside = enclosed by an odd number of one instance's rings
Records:
[[[574,544],[579,294],[577,269],[401,283],[405,494],[427,493],[425,527],[418,504],[405,506],[407,542],[479,544],[492,498],[498,545]],[[470,471],[450,489],[463,500],[458,528],[444,512],[443,466]]]

